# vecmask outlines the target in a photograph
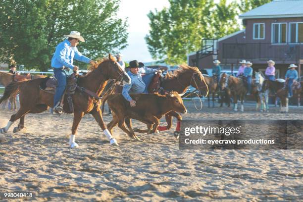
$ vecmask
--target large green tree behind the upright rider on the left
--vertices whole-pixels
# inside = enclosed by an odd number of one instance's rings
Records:
[[[120,0],[1,0],[0,61],[47,70],[55,47],[70,31],[85,38],[78,49],[92,59],[127,46]]]

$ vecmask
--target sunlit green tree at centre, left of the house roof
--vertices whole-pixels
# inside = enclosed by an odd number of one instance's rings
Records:
[[[184,63],[187,53],[201,49],[202,39],[220,38],[239,29],[237,3],[221,0],[169,0],[170,7],[150,12],[146,36],[153,59]]]

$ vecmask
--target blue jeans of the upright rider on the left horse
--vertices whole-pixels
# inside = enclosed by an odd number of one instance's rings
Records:
[[[58,81],[57,87],[56,87],[56,92],[53,97],[53,105],[55,105],[58,101],[61,100],[61,97],[64,93],[65,87],[66,87],[66,72],[63,69],[60,68],[54,68],[53,73],[55,78]]]

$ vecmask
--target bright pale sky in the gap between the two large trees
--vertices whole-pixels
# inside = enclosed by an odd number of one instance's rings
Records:
[[[121,0],[118,17],[128,17],[128,41],[127,48],[121,50],[124,61],[138,60],[141,62],[153,61],[147,48],[144,37],[149,33],[150,20],[147,14],[150,10],[161,10],[169,7],[168,0]]]

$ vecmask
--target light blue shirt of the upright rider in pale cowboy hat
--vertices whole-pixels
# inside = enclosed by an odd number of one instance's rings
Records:
[[[77,47],[71,47],[71,43],[68,40],[64,40],[56,47],[55,52],[51,58],[51,67],[52,68],[61,68],[63,66],[70,69],[74,68],[73,61],[74,59],[89,63],[90,58],[82,55]]]

